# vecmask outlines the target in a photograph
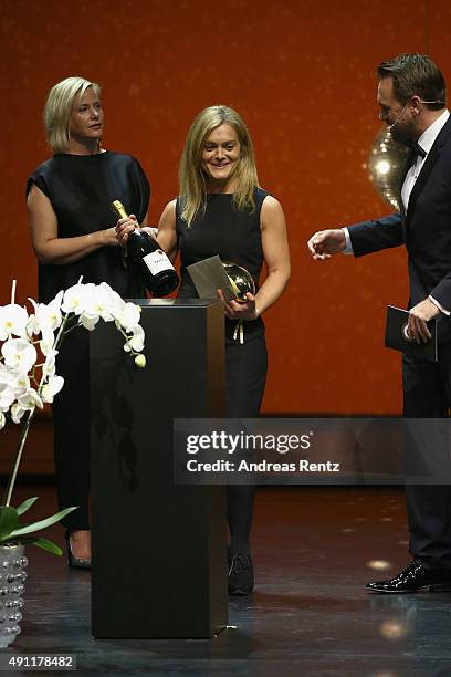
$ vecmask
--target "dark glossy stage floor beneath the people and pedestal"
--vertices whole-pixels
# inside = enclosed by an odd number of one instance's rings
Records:
[[[13,502],[30,496],[41,497],[34,515],[55,508],[50,486],[21,486]],[[62,543],[60,528],[48,534]],[[451,593],[364,589],[408,561],[401,490],[262,489],[253,553],[255,592],[230,602],[235,628],[211,640],[99,640],[91,636],[90,574],[30,546],[22,634],[6,653],[76,654],[77,675],[103,677],[451,674]],[[155,556],[164,566],[158,543]],[[375,561],[386,569],[371,569]]]

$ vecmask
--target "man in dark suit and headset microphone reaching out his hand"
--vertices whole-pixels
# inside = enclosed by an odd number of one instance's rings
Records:
[[[395,140],[411,152],[400,185],[400,213],[322,230],[308,240],[316,260],[337,252],[359,257],[405,244],[410,302],[408,333],[417,343],[431,337],[437,317],[439,361],[403,355],[403,415],[442,418],[451,407],[451,119],[443,75],[422,54],[382,62],[377,102]],[[451,585],[451,487],[406,488],[412,561],[388,581],[368,583],[376,592],[416,592]]]

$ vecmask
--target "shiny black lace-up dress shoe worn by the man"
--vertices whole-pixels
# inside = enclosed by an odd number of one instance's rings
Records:
[[[412,560],[397,576],[389,581],[373,581],[367,590],[382,593],[412,593],[419,590],[451,591],[451,572],[426,569],[418,560]]]

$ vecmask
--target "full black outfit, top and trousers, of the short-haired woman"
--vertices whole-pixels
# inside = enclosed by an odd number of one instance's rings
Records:
[[[97,155],[55,155],[40,165],[27,183],[50,199],[57,218],[57,237],[72,238],[115,226],[111,208],[119,199],[140,222],[147,213],[149,184],[139,163],[109,150]],[[80,280],[107,282],[120,296],[144,298],[135,271],[124,268],[120,247],[102,247],[73,263],[39,264],[39,300],[51,301]],[[64,387],[53,410],[55,472],[60,508],[80,506],[63,523],[70,530],[90,529],[90,371],[88,333],[76,329],[61,347],[56,373]]]

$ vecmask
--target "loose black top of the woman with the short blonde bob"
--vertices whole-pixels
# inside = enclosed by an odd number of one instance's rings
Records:
[[[57,237],[74,238],[116,225],[113,200],[141,222],[150,188],[138,160],[106,150],[97,155],[55,155],[40,165],[27,181],[27,195],[35,184],[50,199],[57,219]],[[144,298],[135,270],[124,268],[120,247],[101,247],[73,263],[39,264],[39,300],[51,301],[62,290],[83,282],[107,282],[120,296]]]

